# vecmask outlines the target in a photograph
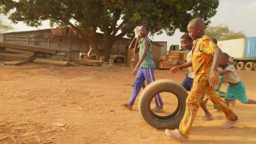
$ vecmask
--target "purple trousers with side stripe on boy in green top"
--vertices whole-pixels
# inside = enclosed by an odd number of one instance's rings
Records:
[[[155,81],[154,68],[139,67],[136,79],[133,82],[133,86],[132,86],[133,89],[132,89],[131,99],[129,101],[130,105],[134,104],[135,99],[136,99],[139,91],[141,91],[142,85],[145,80],[147,81],[148,84]],[[156,106],[164,105],[162,103],[162,99],[159,94],[155,95],[155,104],[156,104]]]

